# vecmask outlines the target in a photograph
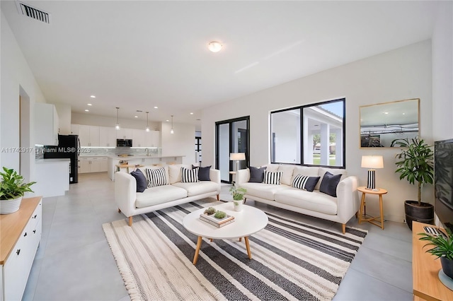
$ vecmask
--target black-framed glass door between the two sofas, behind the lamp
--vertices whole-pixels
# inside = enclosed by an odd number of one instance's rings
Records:
[[[236,171],[236,162],[229,160],[230,153],[245,153],[246,160],[239,161],[239,169],[246,168],[250,162],[250,117],[216,122],[216,158],[217,170],[220,170],[220,180],[224,183],[231,183],[233,175],[230,172]]]

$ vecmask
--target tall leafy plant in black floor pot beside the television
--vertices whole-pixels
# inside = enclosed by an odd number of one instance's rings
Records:
[[[421,187],[423,184],[432,184],[434,179],[434,152],[432,147],[420,138],[396,139],[392,146],[400,146],[404,149],[396,154],[398,160],[395,164],[398,167],[395,172],[399,173],[399,179],[407,179],[409,183],[418,185],[418,200],[404,201],[404,212],[406,223],[412,230],[412,221],[430,223],[434,221],[434,206],[421,201]]]

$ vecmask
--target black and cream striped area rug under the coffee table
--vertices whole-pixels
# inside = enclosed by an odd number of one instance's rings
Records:
[[[244,242],[197,237],[183,217],[221,202],[205,199],[103,224],[131,300],[331,300],[367,232],[323,230],[268,213]]]

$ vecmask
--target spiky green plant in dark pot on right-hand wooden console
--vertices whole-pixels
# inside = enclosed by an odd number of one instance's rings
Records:
[[[453,278],[453,233],[448,228],[445,229],[447,235],[430,235],[428,233],[418,233],[422,237],[419,240],[426,240],[428,244],[426,246],[433,246],[432,249],[428,249],[426,252],[440,258],[440,264],[442,265],[442,271],[449,278]]]

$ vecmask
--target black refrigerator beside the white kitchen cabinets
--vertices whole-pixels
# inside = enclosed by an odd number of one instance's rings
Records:
[[[79,182],[79,151],[78,135],[58,135],[58,146],[44,146],[44,158],[69,158],[69,183]]]

